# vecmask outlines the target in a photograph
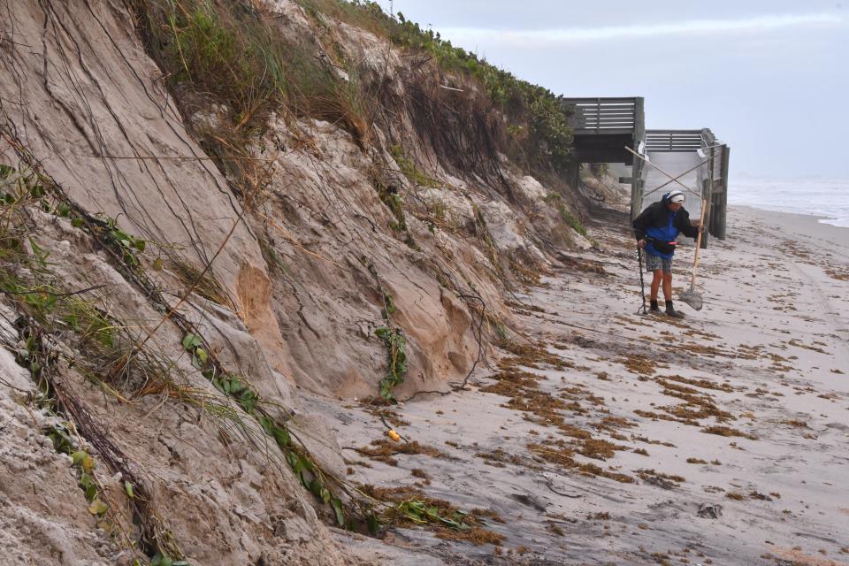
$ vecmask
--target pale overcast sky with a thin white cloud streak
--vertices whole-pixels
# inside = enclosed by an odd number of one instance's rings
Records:
[[[732,173],[849,178],[849,2],[393,4],[555,94],[645,96],[649,128],[709,127]]]

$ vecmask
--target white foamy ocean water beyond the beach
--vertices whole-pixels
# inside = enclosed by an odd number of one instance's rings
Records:
[[[775,180],[739,175],[730,179],[728,203],[821,216],[823,224],[849,227],[849,179]]]

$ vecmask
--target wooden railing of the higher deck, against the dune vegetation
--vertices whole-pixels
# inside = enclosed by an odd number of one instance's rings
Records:
[[[637,98],[562,98],[561,102],[571,112],[575,135],[631,134],[641,111]]]

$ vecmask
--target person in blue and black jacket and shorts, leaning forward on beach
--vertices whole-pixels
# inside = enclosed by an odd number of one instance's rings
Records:
[[[650,311],[652,313],[661,311],[657,306],[657,293],[662,283],[666,314],[675,318],[684,318],[684,315],[675,310],[672,305],[672,256],[675,254],[676,238],[679,233],[684,233],[685,236],[695,239],[701,231],[701,226],[692,226],[690,223],[690,213],[684,208],[684,200],[683,192],[671,191],[663,195],[657,203],[646,207],[646,210],[634,218],[633,222],[638,252],[646,251],[646,272],[654,274],[652,292],[649,296]],[[640,265],[640,279],[642,279],[642,265]]]

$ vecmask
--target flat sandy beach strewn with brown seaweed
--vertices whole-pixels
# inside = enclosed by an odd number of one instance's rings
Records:
[[[356,403],[305,407],[333,426],[348,478],[484,509],[501,546],[412,525],[340,539],[394,564],[849,564],[849,229],[730,210],[729,239],[703,251],[705,308],[679,303],[679,323],[637,314],[625,215],[602,218],[601,251],[517,295],[523,347],[467,391],[395,409],[418,445]]]

